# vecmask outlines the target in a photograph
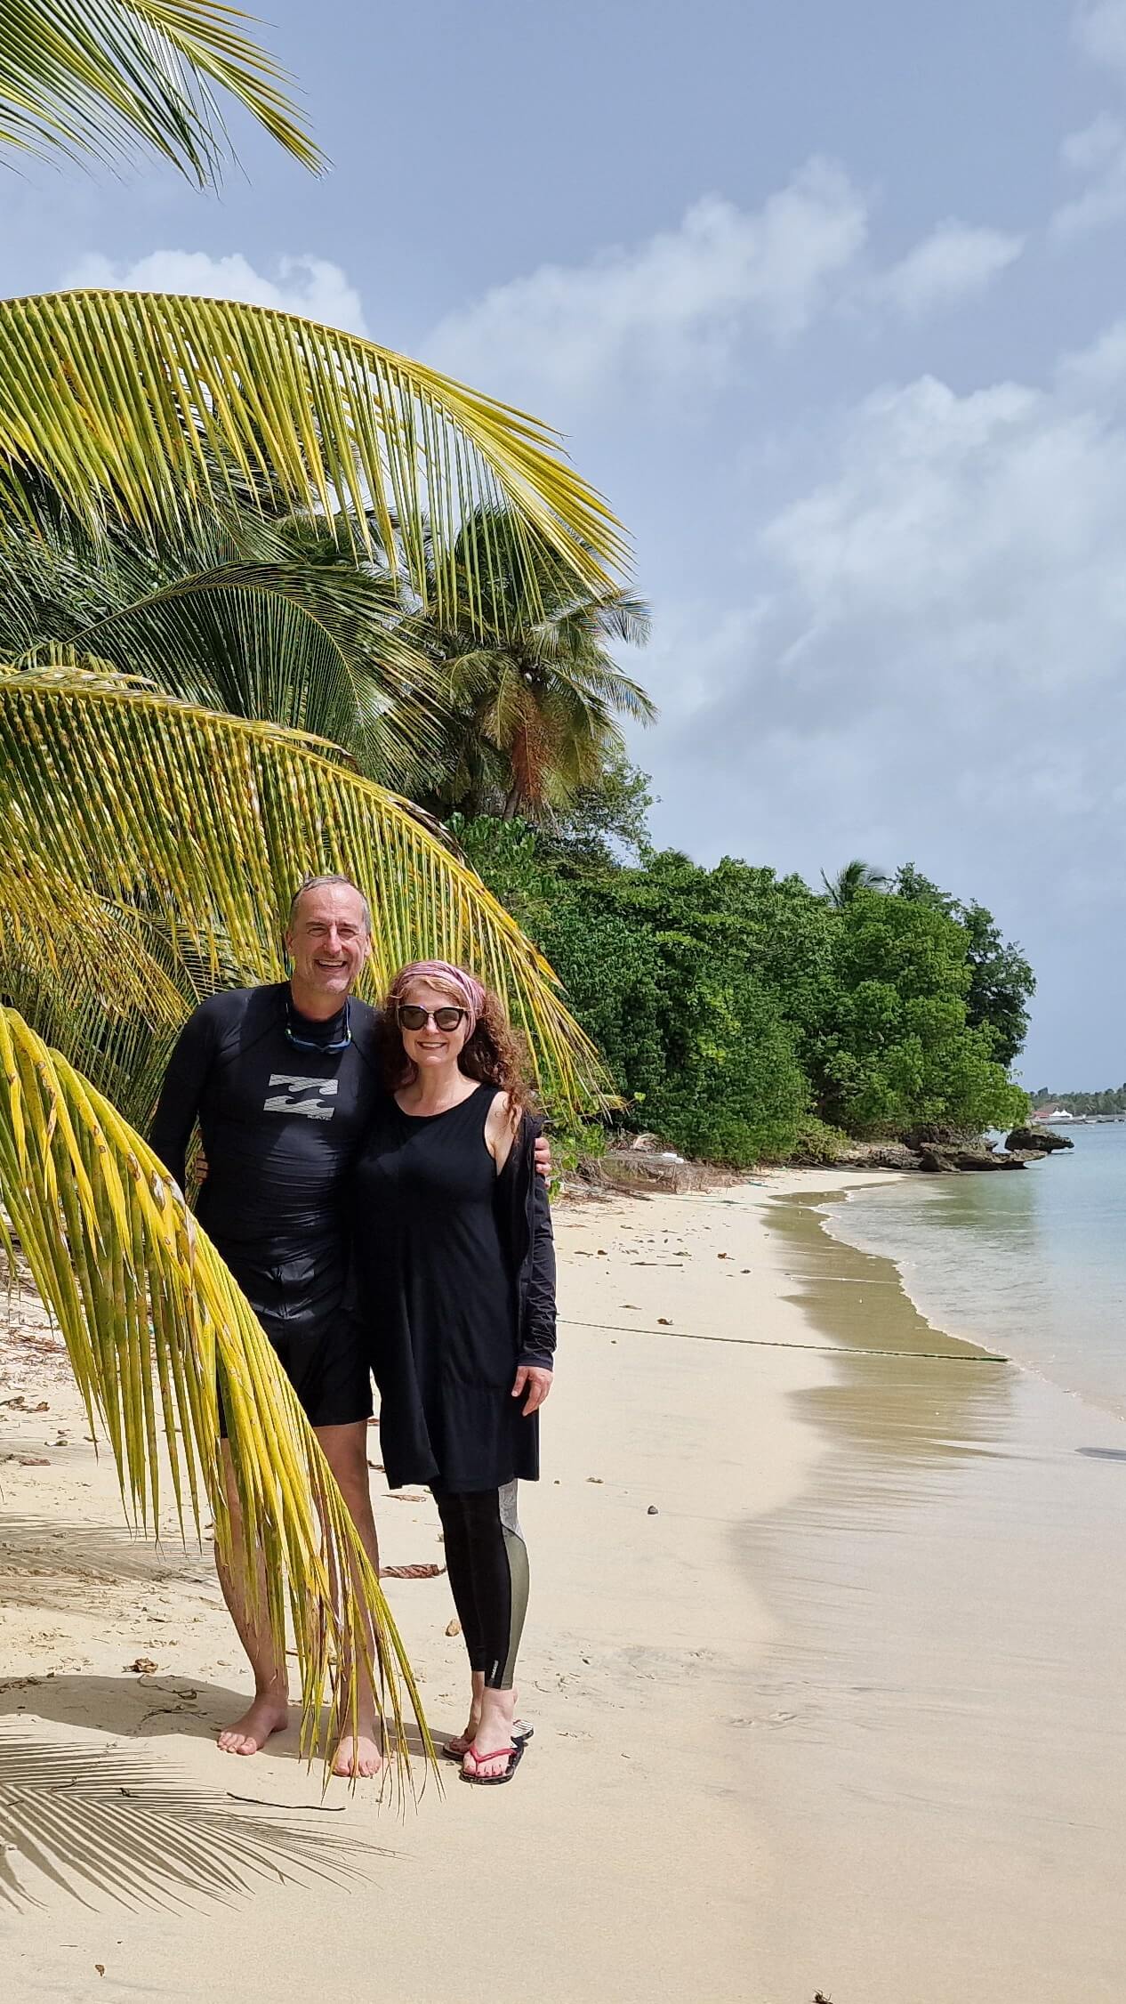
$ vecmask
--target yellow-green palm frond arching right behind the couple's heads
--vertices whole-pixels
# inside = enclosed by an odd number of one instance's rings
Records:
[[[18,882],[46,936],[56,886],[70,926],[84,904],[108,902],[116,924],[136,910],[138,932],[156,910],[172,952],[214,982],[276,980],[293,890],[325,870],[371,898],[375,988],[405,960],[471,966],[525,1030],[545,1092],[597,1096],[597,1054],[543,956],[407,802],[331,745],[96,669],[0,669],[0,902]]]

